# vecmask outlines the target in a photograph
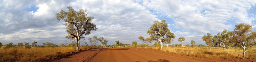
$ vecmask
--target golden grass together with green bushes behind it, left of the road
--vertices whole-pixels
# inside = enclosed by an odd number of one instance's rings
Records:
[[[29,45],[29,43],[25,43],[26,45],[22,45],[22,43],[18,43],[18,45],[13,43],[1,45],[0,62],[47,61],[49,59],[46,57],[56,57],[56,52],[60,52],[61,56],[64,56],[65,54],[76,51],[75,43],[62,46],[58,46],[49,42],[43,43],[43,45],[36,45],[36,43],[37,42],[34,42],[34,44],[32,44],[33,46]],[[100,48],[100,46],[81,46],[82,50],[89,50],[94,48]]]

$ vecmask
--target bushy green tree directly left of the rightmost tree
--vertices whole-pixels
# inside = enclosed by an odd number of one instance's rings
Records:
[[[221,33],[219,32],[216,36],[218,38],[217,45],[219,47],[223,47],[223,49],[221,48],[222,50],[225,50],[226,45],[228,43],[230,43],[229,41],[231,40],[231,38],[233,36],[233,32],[231,32],[231,31],[227,32],[227,29],[225,29],[225,30],[223,30],[223,32],[221,32]],[[230,44],[228,44],[228,45],[230,45]]]

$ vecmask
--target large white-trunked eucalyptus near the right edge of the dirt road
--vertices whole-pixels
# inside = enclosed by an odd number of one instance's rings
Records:
[[[154,21],[153,25],[147,31],[147,34],[151,35],[152,41],[160,42],[161,49],[163,49],[163,41],[166,39],[171,40],[175,38],[174,33],[170,32],[168,28],[168,24],[165,22],[166,20]]]

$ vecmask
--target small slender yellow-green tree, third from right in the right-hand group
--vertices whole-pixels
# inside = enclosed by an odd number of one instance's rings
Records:
[[[213,36],[210,33],[207,33],[207,35],[204,35],[202,37],[203,41],[208,45],[208,47],[211,50],[211,46],[213,46],[213,40],[212,40]]]

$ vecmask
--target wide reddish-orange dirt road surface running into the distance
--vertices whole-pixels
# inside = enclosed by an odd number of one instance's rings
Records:
[[[80,52],[53,62],[256,62],[256,60],[234,60],[179,55],[154,49],[107,48]]]

